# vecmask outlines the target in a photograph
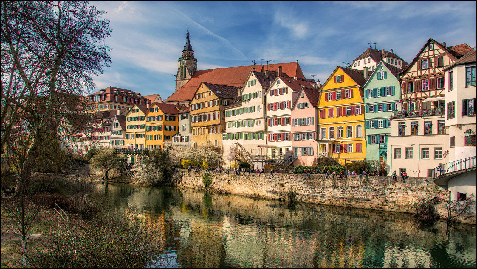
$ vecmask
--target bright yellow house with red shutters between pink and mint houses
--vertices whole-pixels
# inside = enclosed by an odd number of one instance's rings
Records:
[[[321,88],[318,102],[318,158],[364,160],[363,86],[371,71],[338,66]]]

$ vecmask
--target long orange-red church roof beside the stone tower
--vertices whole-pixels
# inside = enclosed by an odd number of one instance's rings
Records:
[[[201,82],[208,82],[219,85],[243,87],[245,80],[250,74],[250,70],[265,72],[265,70],[278,71],[278,66],[282,71],[291,77],[304,78],[300,65],[297,62],[278,63],[270,65],[249,65],[238,67],[217,68],[209,70],[197,70],[192,78],[179,90],[169,96],[165,102],[190,101],[194,98],[197,87]]]

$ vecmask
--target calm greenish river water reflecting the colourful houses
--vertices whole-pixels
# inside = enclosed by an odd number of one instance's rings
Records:
[[[475,228],[409,215],[105,184],[111,206],[165,233],[180,267],[475,267]],[[106,186],[105,186],[106,187]]]

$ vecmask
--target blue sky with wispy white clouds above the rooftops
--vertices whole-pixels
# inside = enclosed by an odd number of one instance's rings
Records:
[[[298,60],[306,78],[325,82],[369,45],[411,62],[432,38],[476,46],[476,2],[91,2],[113,30],[111,67],[94,77],[142,95],[175,90],[187,27],[197,69]],[[374,44],[371,44],[374,48]]]

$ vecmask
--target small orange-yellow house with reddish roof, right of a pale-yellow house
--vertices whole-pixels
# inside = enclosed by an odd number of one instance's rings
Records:
[[[164,149],[164,141],[179,130],[179,111],[187,107],[154,102],[145,113],[146,149]]]

